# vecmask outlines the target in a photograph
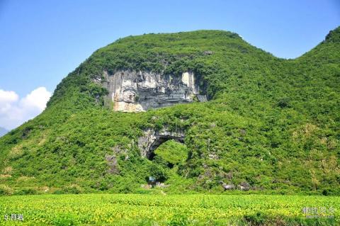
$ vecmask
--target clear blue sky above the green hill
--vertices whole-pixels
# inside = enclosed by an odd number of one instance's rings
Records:
[[[17,102],[38,87],[51,93],[92,52],[127,35],[230,30],[294,58],[339,25],[339,0],[0,0],[0,90],[15,92]]]

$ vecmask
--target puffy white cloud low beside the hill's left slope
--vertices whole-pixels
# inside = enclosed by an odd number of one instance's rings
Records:
[[[0,89],[0,127],[11,130],[39,115],[50,97],[51,93],[45,87],[39,87],[20,99],[15,91]]]

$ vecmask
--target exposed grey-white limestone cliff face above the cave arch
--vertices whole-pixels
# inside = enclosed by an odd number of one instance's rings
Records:
[[[176,103],[206,101],[200,95],[198,81],[192,72],[181,77],[121,70],[114,74],[104,72],[103,86],[108,89],[108,102],[114,111],[137,112],[149,108],[161,108]]]

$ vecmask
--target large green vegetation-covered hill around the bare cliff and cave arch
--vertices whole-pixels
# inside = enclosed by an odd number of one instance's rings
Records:
[[[224,182],[340,194],[339,35],[295,60],[221,30],[116,40],[64,78],[43,113],[0,138],[0,193],[157,192],[141,187],[155,176],[167,193],[218,193]],[[112,111],[94,78],[118,69],[195,72],[210,101]],[[164,127],[184,131],[184,143],[141,157],[143,131]]]

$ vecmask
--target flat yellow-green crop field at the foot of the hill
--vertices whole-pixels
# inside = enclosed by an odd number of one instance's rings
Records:
[[[330,196],[2,196],[0,225],[339,225],[339,208]]]

